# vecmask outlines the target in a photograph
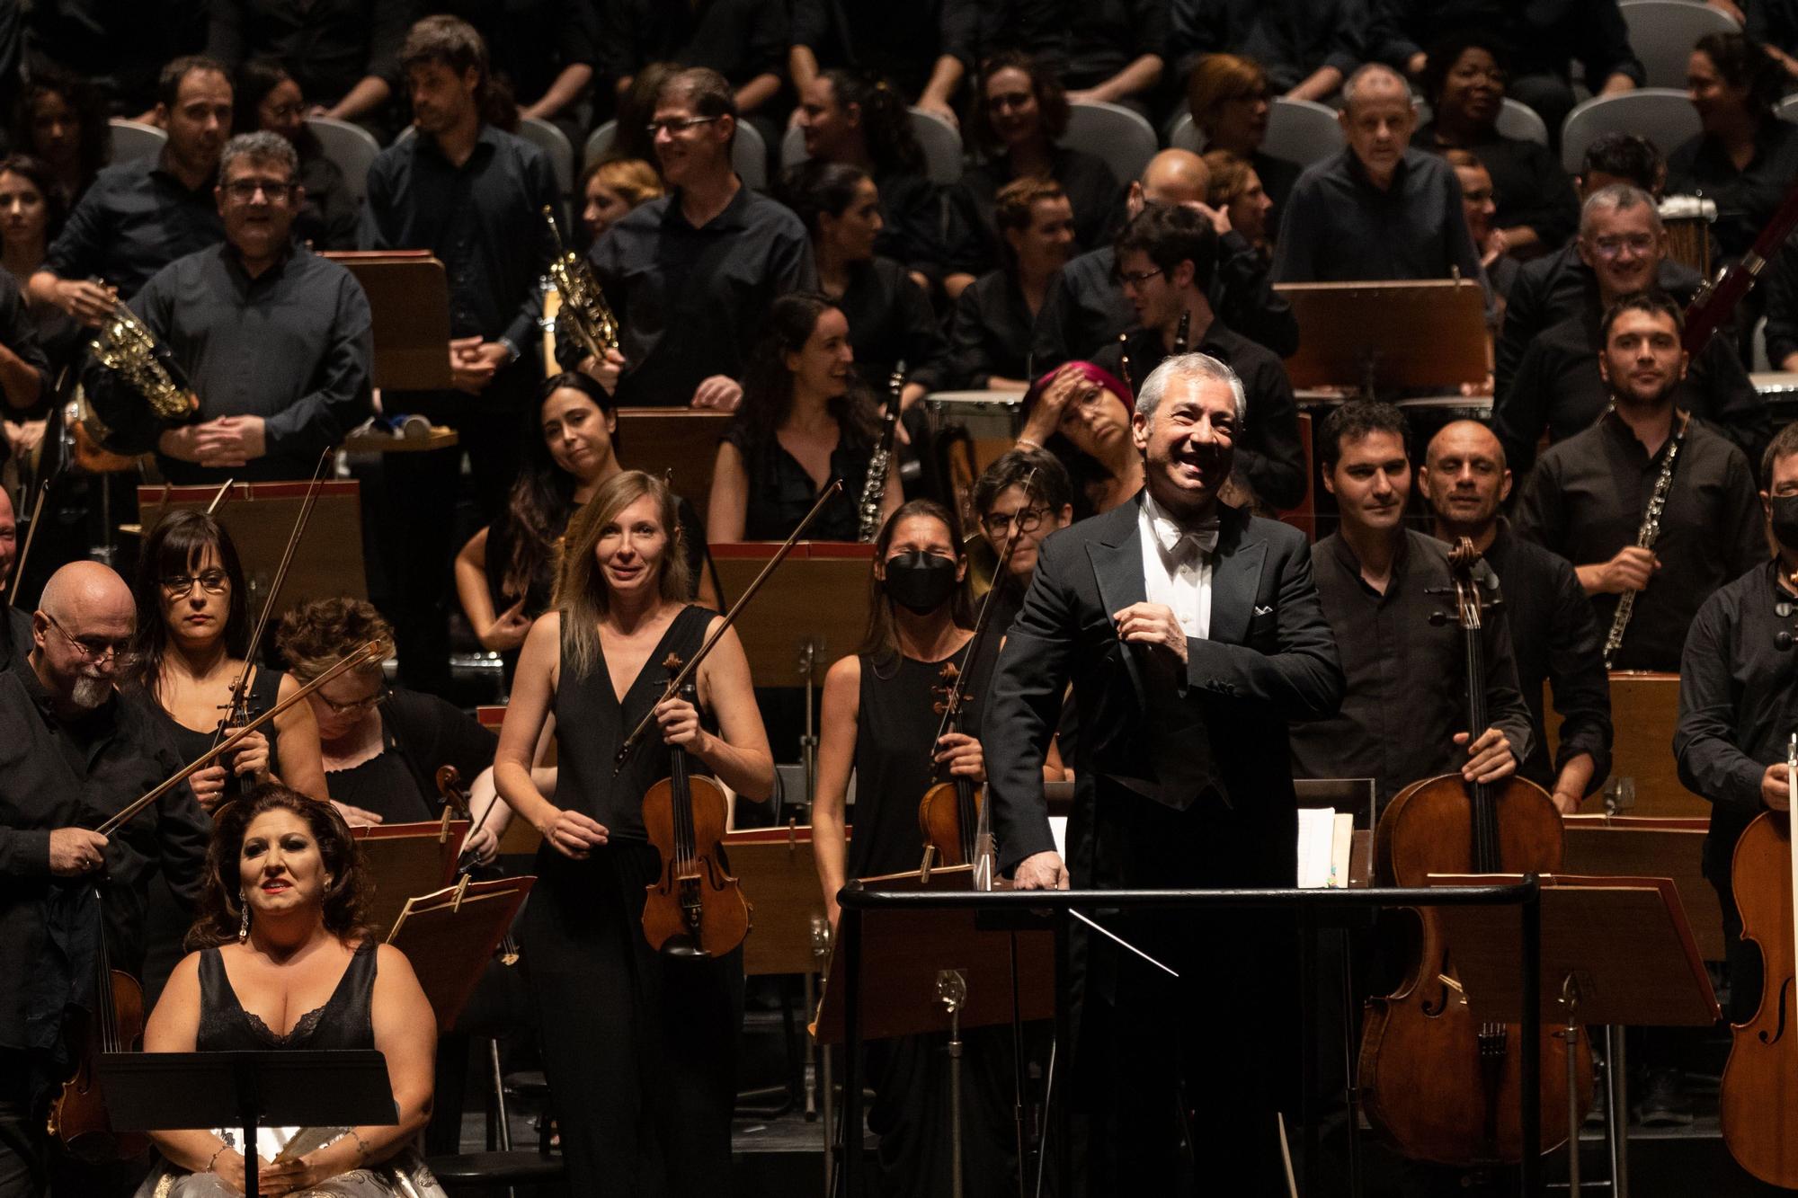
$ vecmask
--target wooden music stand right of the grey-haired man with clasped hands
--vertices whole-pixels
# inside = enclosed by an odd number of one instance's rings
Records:
[[[381,390],[450,387],[450,277],[430,250],[324,254],[356,275],[374,315],[374,385]]]

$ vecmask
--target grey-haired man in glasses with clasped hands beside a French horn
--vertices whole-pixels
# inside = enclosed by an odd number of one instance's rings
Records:
[[[349,270],[293,243],[297,176],[280,135],[234,137],[214,189],[225,243],[171,263],[131,300],[192,385],[192,421],[165,425],[129,381],[88,367],[108,444],[155,450],[171,482],[307,478],[369,410],[369,299]]]

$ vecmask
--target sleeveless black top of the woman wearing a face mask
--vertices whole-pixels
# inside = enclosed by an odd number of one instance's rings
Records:
[[[966,649],[966,646],[962,646]],[[931,764],[937,702],[946,698],[942,667],[960,664],[962,649],[940,662],[861,655],[861,714],[856,720],[856,806],[849,838],[849,876],[872,878],[917,869],[924,833],[917,804],[931,784],[948,779]]]

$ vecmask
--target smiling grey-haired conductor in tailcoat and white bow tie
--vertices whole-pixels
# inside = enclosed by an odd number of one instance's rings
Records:
[[[1217,500],[1242,408],[1221,362],[1163,362],[1131,421],[1144,491],[1037,552],[982,725],[1000,867],[1019,889],[1295,883],[1287,723],[1336,711],[1343,676],[1304,534]],[[1043,800],[1070,680],[1075,784],[1095,815],[1072,878]],[[1197,1108],[1206,1193],[1286,1193],[1275,1090],[1291,1034],[1260,1020],[1293,993],[1289,923],[1111,921],[1179,980],[1091,937],[1073,1076],[1097,1121],[1095,1193],[1176,1193],[1179,1104]],[[1214,984],[1217,961],[1237,982]]]

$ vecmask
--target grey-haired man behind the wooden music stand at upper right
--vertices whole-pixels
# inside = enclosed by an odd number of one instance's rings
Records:
[[[1411,149],[1417,113],[1404,79],[1370,63],[1343,85],[1348,146],[1298,176],[1280,219],[1280,282],[1464,279],[1485,282],[1462,214],[1460,182],[1437,155]]]

